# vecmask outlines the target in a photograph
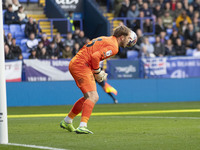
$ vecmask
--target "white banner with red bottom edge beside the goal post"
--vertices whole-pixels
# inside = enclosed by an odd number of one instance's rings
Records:
[[[22,79],[22,61],[5,63],[6,82],[20,82]]]

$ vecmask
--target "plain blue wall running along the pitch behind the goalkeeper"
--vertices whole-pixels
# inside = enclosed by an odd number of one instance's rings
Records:
[[[200,101],[200,78],[123,79],[108,82],[118,90],[119,103]],[[112,99],[97,87],[98,104]],[[74,81],[7,83],[8,106],[71,105],[82,96]]]

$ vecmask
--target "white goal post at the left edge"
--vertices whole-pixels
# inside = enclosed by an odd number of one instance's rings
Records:
[[[7,99],[5,80],[5,57],[3,40],[3,11],[0,0],[0,144],[8,143]]]

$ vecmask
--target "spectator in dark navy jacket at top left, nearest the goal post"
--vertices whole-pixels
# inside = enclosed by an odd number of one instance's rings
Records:
[[[5,24],[19,24],[19,17],[16,12],[13,12],[12,5],[8,5],[7,11],[4,13]]]

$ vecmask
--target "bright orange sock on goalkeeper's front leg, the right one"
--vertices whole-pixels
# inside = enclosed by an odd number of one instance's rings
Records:
[[[92,110],[94,108],[94,103],[87,99],[85,100],[84,104],[83,104],[83,112],[82,112],[82,116],[81,116],[81,122],[85,122],[87,123],[90,115],[92,114]]]

